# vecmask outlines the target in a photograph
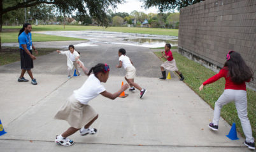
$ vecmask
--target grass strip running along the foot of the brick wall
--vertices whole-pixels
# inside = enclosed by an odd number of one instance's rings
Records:
[[[160,52],[154,52],[157,56],[160,56]],[[173,52],[173,57],[176,60],[176,64],[179,68],[179,71],[183,73],[185,80],[184,82],[194,90],[199,96],[208,103],[211,108],[214,109],[215,102],[220,97],[220,95],[224,92],[225,87],[225,79],[222,78],[217,82],[206,85],[203,91],[199,92],[199,86],[207,79],[215,75],[216,73],[212,70],[196,63],[195,61],[188,60],[185,56],[177,52]],[[166,61],[166,59],[162,58],[162,61]],[[248,117],[250,119],[250,124],[252,125],[253,137],[256,137],[256,92],[250,89],[247,89],[247,99],[248,99]],[[236,123],[237,130],[241,132],[244,136],[243,129],[241,127],[240,120],[238,118],[238,113],[236,111],[236,106],[234,102],[225,105],[222,108],[221,113],[222,118],[224,118],[230,125],[233,122]],[[208,125],[208,122],[206,122]],[[228,134],[229,132],[227,132]],[[244,136],[245,137],[245,136]]]

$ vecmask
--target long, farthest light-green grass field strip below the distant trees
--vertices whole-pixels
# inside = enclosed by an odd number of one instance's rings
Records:
[[[3,30],[19,30],[20,26],[3,26]],[[33,31],[64,30],[63,25],[32,25]],[[105,30],[111,32],[139,33],[139,34],[157,34],[178,36],[177,29],[166,28],[140,28],[140,27],[96,27],[82,25],[66,25],[65,30]]]

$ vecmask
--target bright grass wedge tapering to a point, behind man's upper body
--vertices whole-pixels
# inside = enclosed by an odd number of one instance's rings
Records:
[[[45,35],[32,33],[33,42],[43,42],[43,41],[80,41],[86,39],[76,39],[73,37],[62,37],[55,35]],[[1,43],[6,42],[18,42],[18,32],[1,32]]]

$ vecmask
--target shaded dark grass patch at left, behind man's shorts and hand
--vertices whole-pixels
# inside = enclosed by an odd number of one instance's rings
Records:
[[[56,51],[55,48],[36,48],[38,50],[38,55],[41,56],[48,53],[52,53],[53,51]],[[0,66],[6,65],[9,63],[13,63],[15,61],[20,61],[20,49],[18,47],[5,47],[2,46],[2,49],[0,50]],[[34,53],[34,52],[33,52]]]

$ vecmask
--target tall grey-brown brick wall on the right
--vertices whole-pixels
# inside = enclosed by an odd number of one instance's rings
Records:
[[[217,72],[229,50],[253,69],[256,89],[256,0],[206,0],[180,11],[179,52]]]

